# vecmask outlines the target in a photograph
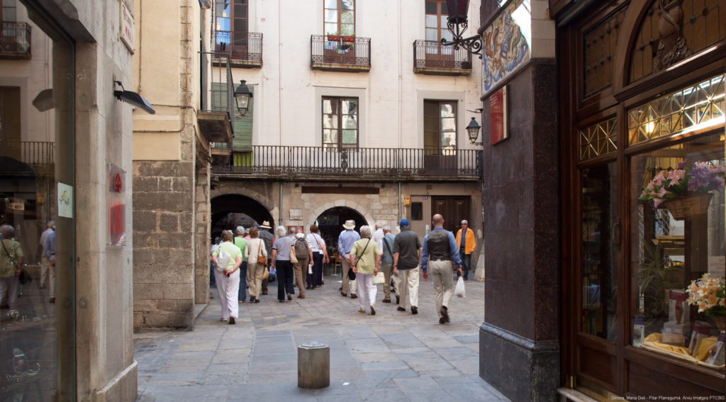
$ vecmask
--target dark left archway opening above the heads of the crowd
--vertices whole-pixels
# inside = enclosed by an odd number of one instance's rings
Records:
[[[239,194],[224,194],[211,200],[212,210],[212,237],[217,237],[224,229],[234,229],[244,226],[245,229],[254,223],[261,224],[269,221],[275,226],[275,221],[267,208],[250,197]]]

